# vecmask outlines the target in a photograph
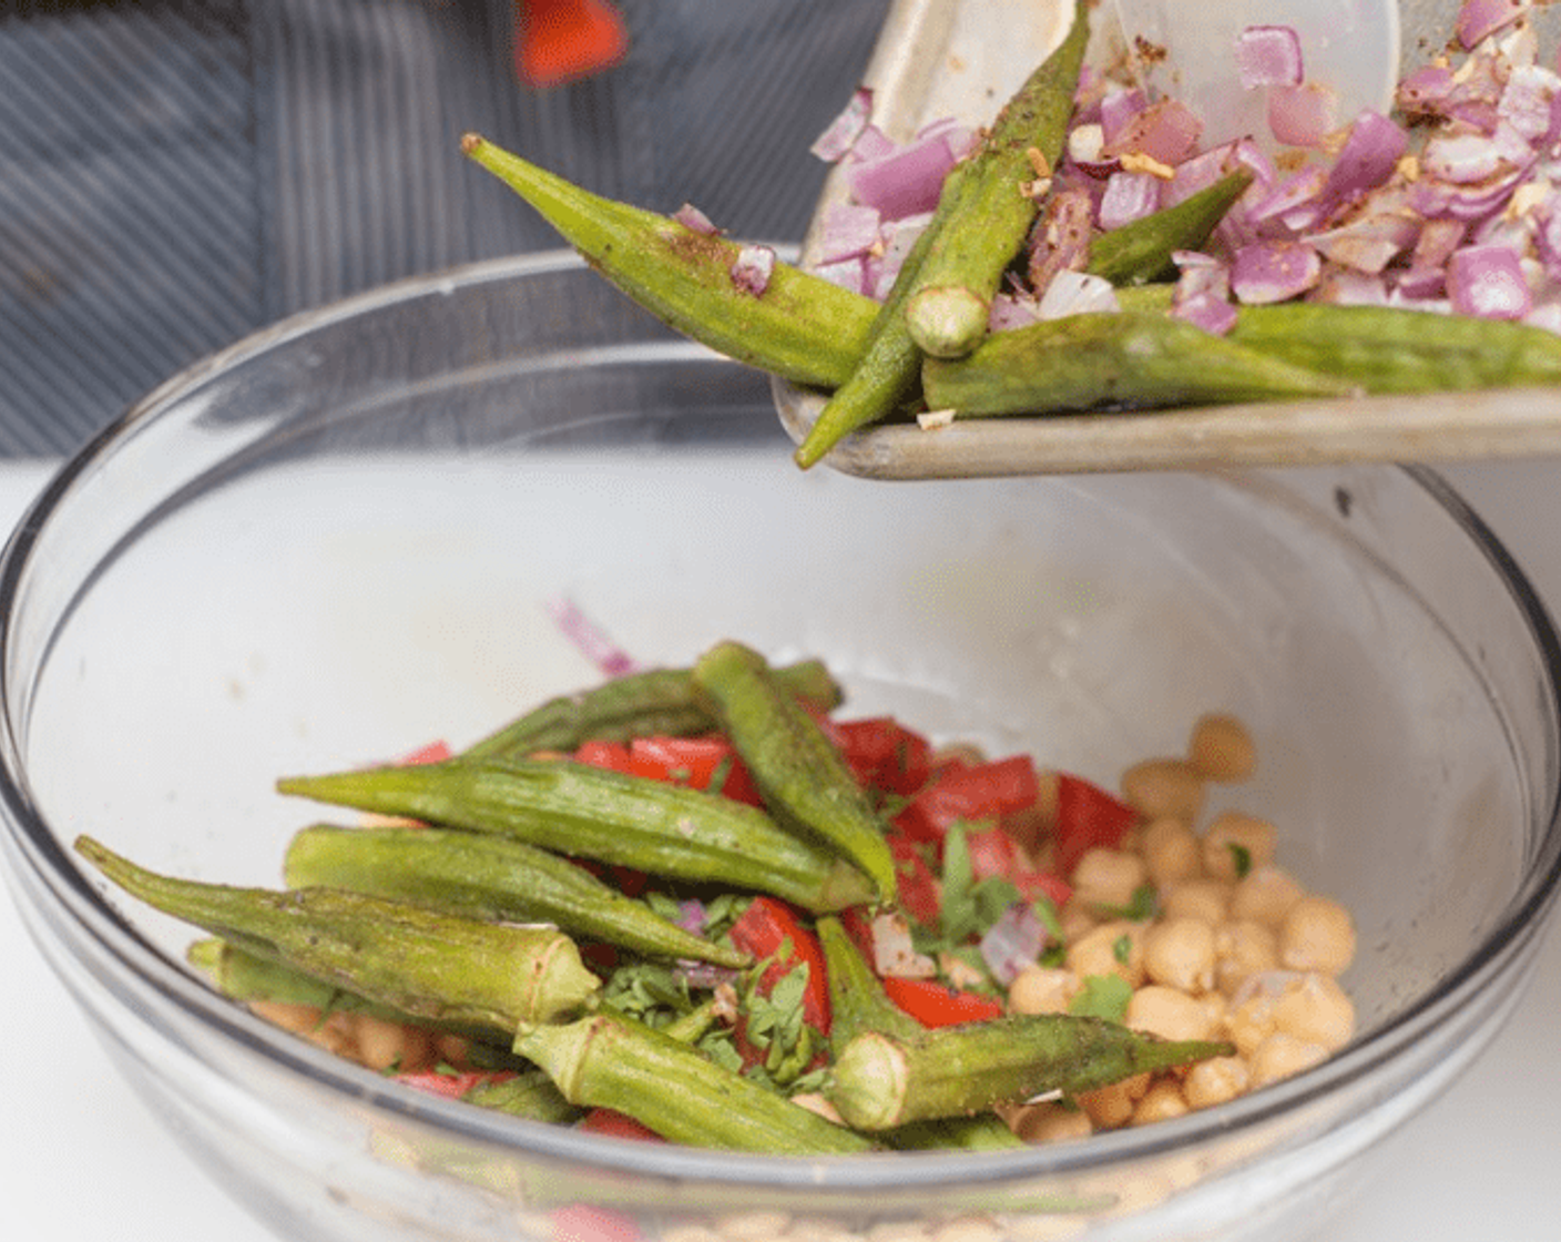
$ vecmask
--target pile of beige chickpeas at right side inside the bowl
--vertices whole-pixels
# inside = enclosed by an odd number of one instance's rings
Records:
[[[1194,725],[1185,756],[1127,769],[1121,795],[1138,823],[1118,848],[1090,850],[1074,869],[1060,912],[1063,965],[1027,967],[1008,989],[1013,1012],[1063,1012],[1085,980],[1119,975],[1133,989],[1129,1026],[1229,1040],[1236,1053],[1012,1109],[1021,1137],[1076,1139],[1179,1117],[1299,1073],[1349,1042],[1355,1006],[1338,976],[1355,956],[1350,912],[1274,861],[1268,820],[1241,811],[1204,820],[1208,786],[1239,784],[1255,766],[1244,725],[1211,714]],[[1144,886],[1157,895],[1154,917],[1119,917]]]

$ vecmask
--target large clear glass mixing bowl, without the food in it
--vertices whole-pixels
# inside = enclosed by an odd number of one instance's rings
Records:
[[[70,461],[0,566],[6,870],[108,1053],[295,1239],[1263,1237],[1442,1092],[1552,909],[1556,634],[1438,478],[1308,469],[865,483],[799,473],[763,377],[546,255],[286,322]],[[1232,794],[1360,928],[1360,1033],[1230,1105],[1002,1155],[632,1144],[404,1089],[254,1019],[190,930],[76,864],[275,884],[284,772],[475,741],[718,637],[823,656],[852,714],[1113,783],[1207,709]],[[713,1231],[713,1233],[712,1233]]]

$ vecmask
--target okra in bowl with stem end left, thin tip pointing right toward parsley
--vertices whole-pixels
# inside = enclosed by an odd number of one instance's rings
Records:
[[[283,875],[293,889],[350,889],[490,922],[553,923],[652,958],[748,965],[570,859],[485,833],[314,825],[293,834]]]

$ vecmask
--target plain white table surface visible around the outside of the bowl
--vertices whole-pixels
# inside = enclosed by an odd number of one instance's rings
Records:
[[[11,528],[47,478],[0,466]],[[1561,614],[1561,461],[1445,473]],[[192,1164],[119,1078],[0,897],[0,995],[11,1015],[0,1086],[0,1222],[25,1242],[275,1242]],[[1541,1242],[1561,1236],[1561,934],[1525,1003],[1480,1062],[1396,1134],[1377,1178],[1317,1242]]]

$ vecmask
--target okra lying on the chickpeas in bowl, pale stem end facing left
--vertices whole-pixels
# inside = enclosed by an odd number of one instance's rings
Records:
[[[1229,1044],[1161,1040],[1101,1019],[1007,1015],[913,1037],[860,1034],[835,1059],[824,1094],[848,1125],[882,1131],[1054,1090],[1072,1095],[1232,1051]]]

